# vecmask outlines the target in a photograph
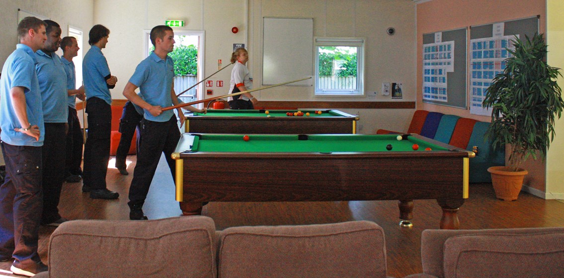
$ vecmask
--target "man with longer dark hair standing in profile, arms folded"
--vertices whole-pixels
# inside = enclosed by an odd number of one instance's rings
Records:
[[[84,170],[82,192],[90,192],[90,198],[117,199],[120,194],[106,188],[110,136],[112,133],[112,94],[117,77],[112,76],[102,48],[108,43],[109,30],[103,25],[90,29],[90,50],[84,56],[82,76],[86,91],[88,113],[88,137],[84,145]]]

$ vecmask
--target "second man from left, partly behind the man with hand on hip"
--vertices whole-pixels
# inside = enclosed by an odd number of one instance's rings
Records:
[[[43,142],[43,214],[42,225],[59,226],[67,221],[59,214],[59,198],[63,188],[65,146],[67,140],[67,74],[55,51],[61,43],[61,28],[52,20],[47,23],[47,41],[36,52],[36,70],[43,103],[45,142]]]

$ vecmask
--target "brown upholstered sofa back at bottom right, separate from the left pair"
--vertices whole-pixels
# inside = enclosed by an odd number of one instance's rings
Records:
[[[425,230],[425,276],[564,277],[564,228]]]

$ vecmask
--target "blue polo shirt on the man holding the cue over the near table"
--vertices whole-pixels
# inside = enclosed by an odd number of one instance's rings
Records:
[[[170,90],[173,86],[174,61],[169,56],[163,60],[155,52],[151,52],[145,60],[141,61],[129,82],[139,87],[139,94],[148,104],[169,107],[173,105]],[[174,115],[172,110],[163,111],[158,116],[153,116],[147,110],[143,117],[153,122],[166,122]]]

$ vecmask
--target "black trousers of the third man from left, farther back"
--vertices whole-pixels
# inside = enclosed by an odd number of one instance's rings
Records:
[[[67,155],[65,176],[82,175],[82,145],[84,137],[80,128],[80,121],[76,109],[69,107],[69,131],[67,133]]]

